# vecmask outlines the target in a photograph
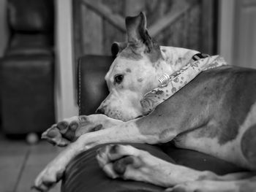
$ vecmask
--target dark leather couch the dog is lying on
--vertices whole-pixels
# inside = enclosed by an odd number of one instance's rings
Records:
[[[78,104],[80,115],[95,112],[100,102],[108,95],[104,76],[112,63],[111,56],[86,55],[78,62]],[[152,155],[165,159],[174,164],[189,166],[197,170],[211,170],[217,174],[240,172],[243,169],[214,158],[210,155],[192,150],[178,149],[170,142],[166,145],[146,145],[124,143],[147,150]],[[112,180],[99,169],[96,150],[91,148],[80,153],[67,166],[62,182],[62,192],[115,192],[115,191],[163,191],[164,188],[148,183],[130,180]]]

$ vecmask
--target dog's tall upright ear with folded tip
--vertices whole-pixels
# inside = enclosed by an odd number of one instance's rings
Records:
[[[127,27],[128,43],[131,46],[140,47],[141,43],[148,47],[148,51],[153,48],[152,38],[146,29],[146,16],[143,12],[135,17],[125,19]]]

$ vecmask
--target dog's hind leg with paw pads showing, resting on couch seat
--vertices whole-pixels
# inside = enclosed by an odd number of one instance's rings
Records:
[[[178,183],[217,177],[211,172],[198,172],[170,164],[150,153],[129,145],[107,145],[97,154],[99,166],[111,178],[137,180],[168,188]]]

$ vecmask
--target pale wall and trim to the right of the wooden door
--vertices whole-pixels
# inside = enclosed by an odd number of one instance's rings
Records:
[[[219,0],[219,54],[256,69],[256,0]]]

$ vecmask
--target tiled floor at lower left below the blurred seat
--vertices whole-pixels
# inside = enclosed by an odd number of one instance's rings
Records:
[[[31,191],[34,179],[60,149],[47,142],[28,145],[0,135],[0,192]],[[51,192],[59,192],[60,183]]]

